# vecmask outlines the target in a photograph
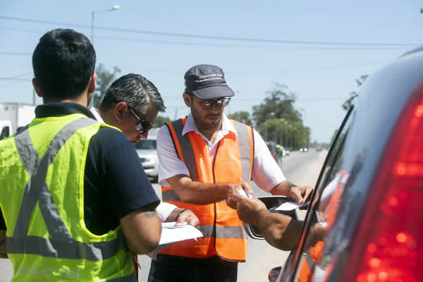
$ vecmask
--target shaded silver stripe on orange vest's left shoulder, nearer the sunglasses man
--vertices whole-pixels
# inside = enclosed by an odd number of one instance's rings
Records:
[[[187,166],[188,171],[190,171],[190,178],[192,181],[199,181],[200,177],[198,176],[198,171],[197,171],[197,161],[195,160],[195,155],[192,149],[190,138],[188,137],[188,134],[182,135],[182,130],[183,130],[182,120],[178,119],[177,121],[173,121],[172,125],[173,125],[173,128],[175,129],[176,137],[178,138],[178,141],[179,141],[183,160],[185,161],[185,165]]]

